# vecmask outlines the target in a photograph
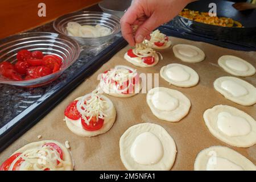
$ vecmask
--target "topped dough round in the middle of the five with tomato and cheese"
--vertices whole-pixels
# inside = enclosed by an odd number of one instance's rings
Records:
[[[110,96],[131,97],[139,93],[141,82],[135,69],[117,65],[102,73],[100,88]]]

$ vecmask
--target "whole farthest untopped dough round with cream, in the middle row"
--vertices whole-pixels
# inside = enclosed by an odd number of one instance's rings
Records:
[[[175,57],[188,63],[199,63],[204,60],[204,52],[195,46],[188,44],[177,44],[173,48]]]

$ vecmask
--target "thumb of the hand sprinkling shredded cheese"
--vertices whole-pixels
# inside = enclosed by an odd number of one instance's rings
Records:
[[[150,18],[148,18],[141,26],[138,27],[135,34],[135,41],[137,43],[141,43],[159,25],[160,24],[158,24],[155,16],[150,16]]]

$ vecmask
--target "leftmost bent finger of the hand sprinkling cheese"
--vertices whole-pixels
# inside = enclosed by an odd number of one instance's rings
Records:
[[[135,41],[133,37],[132,24],[137,20],[136,11],[130,7],[121,19],[121,31],[123,38],[130,44],[130,46],[135,46]]]

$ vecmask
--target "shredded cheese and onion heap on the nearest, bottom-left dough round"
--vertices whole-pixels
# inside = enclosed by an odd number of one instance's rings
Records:
[[[60,159],[60,154],[56,150],[53,150],[50,146],[40,146],[24,151],[16,158],[9,169],[13,169],[14,164],[22,158],[24,161],[20,164],[20,171],[43,171],[49,169],[52,171],[64,170],[63,164],[66,164],[64,160]],[[57,164],[59,160],[59,164]]]

